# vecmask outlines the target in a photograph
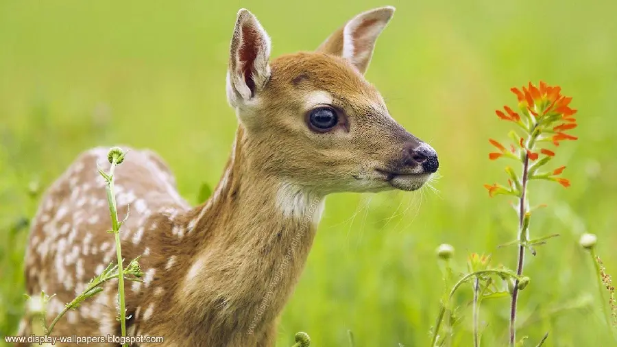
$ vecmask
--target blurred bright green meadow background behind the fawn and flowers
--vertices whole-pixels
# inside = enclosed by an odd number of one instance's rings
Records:
[[[531,183],[532,235],[561,234],[527,259],[519,337],[529,346],[609,346],[592,263],[578,246],[598,235],[617,273],[617,2],[605,1],[0,1],[0,335],[23,305],[23,249],[38,198],[88,147],[149,147],[191,202],[214,186],[237,126],[226,103],[228,45],[239,8],[273,41],[273,56],[317,47],[355,14],[395,5],[367,78],[394,117],[439,153],[435,193],[328,198],[315,246],[282,315],[278,346],[296,331],[311,346],[428,346],[444,290],[435,248],[451,243],[514,267],[516,237],[504,182],[487,138],[507,141],[494,110],[516,104],[511,86],[545,80],[574,97],[579,141],[557,149],[572,187]],[[470,287],[457,296],[454,346],[471,346]],[[483,346],[506,341],[509,300],[483,303]],[[2,339],[3,340],[3,339]],[[3,342],[0,342],[2,344]]]

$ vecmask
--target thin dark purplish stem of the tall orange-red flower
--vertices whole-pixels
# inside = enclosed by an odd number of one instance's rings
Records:
[[[525,154],[523,161],[522,172],[522,189],[520,191],[520,200],[518,208],[518,225],[519,235],[518,241],[518,265],[516,267],[516,274],[520,277],[523,272],[523,263],[525,259],[525,241],[527,241],[527,230],[524,228],[525,213],[527,213],[527,178],[529,176],[529,155]],[[518,302],[518,279],[514,284],[512,290],[512,302],[510,305],[510,347],[514,347],[516,344],[516,304]]]

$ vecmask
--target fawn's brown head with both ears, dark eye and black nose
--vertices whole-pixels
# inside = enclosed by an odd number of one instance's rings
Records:
[[[363,12],[313,52],[270,61],[270,38],[240,10],[227,75],[245,160],[265,177],[316,193],[413,191],[439,163],[399,125],[364,73],[394,8]]]

